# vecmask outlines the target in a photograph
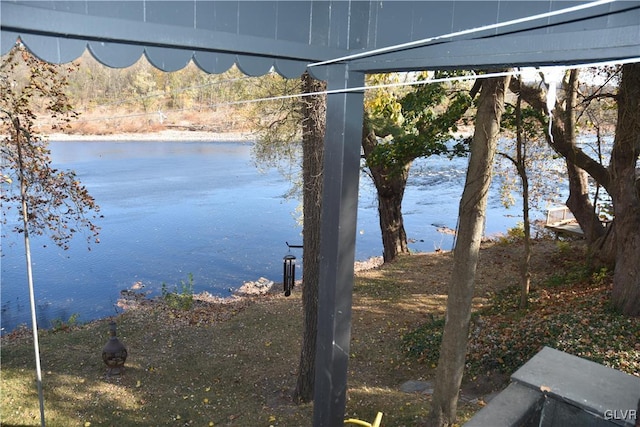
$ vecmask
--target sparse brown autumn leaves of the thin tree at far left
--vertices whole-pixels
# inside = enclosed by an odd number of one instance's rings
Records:
[[[76,231],[87,229],[88,240],[97,241],[93,224],[99,207],[73,171],[54,168],[48,142],[37,134],[37,118],[47,116],[52,129],[62,130],[77,117],[65,88],[74,66],[48,64],[17,46],[0,65],[0,193],[3,222],[13,231],[48,234],[60,247],[68,248]],[[26,204],[25,209],[18,207]]]

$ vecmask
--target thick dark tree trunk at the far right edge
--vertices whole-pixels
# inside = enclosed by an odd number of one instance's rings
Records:
[[[612,300],[630,316],[640,316],[640,64],[622,67],[618,122],[611,153],[613,209],[617,238]]]

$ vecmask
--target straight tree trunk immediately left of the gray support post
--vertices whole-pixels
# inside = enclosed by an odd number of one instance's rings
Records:
[[[326,90],[326,83],[302,76],[305,93]],[[322,162],[326,102],[324,95],[303,98],[302,175],[303,175],[303,285],[304,327],[298,378],[293,399],[313,400],[315,381],[316,335],[318,331],[318,278],[320,275],[320,206],[322,200]]]

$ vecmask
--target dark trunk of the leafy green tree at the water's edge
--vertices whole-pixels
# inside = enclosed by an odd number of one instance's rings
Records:
[[[365,158],[369,158],[376,144],[376,135],[367,128],[365,123],[362,132]],[[402,218],[402,198],[407,186],[410,166],[411,163],[407,163],[399,170],[390,170],[381,165],[369,165],[378,197],[384,262],[393,261],[401,253],[409,253],[407,233]]]

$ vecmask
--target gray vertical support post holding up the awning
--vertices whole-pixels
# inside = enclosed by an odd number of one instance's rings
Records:
[[[346,65],[327,70],[329,90],[362,87]],[[318,336],[313,425],[344,423],[360,176],[363,92],[327,95],[320,227]]]

